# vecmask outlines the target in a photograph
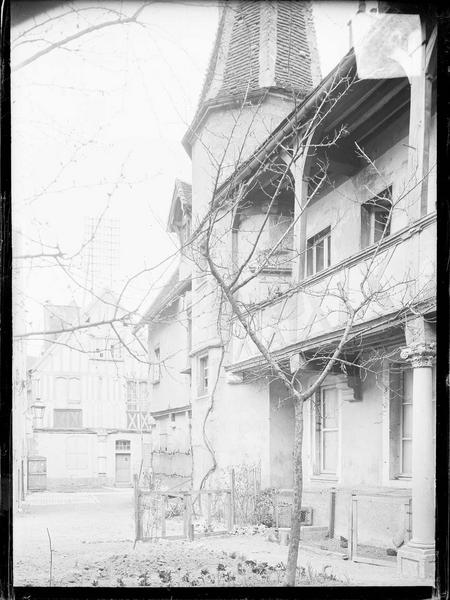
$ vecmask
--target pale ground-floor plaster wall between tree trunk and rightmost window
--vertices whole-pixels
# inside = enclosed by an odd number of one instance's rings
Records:
[[[404,529],[404,504],[410,495],[409,483],[383,480],[383,463],[389,460],[383,444],[385,402],[382,365],[373,365],[362,383],[363,399],[339,401],[339,467],[336,476],[313,472],[314,419],[312,402],[305,407],[303,505],[313,508],[313,524],[328,526],[330,491],[336,490],[335,537],[349,535],[351,493],[358,499],[358,539],[362,544],[392,547],[392,536]],[[330,379],[328,380],[330,381]],[[327,383],[327,381],[325,382]],[[387,494],[387,496],[381,495]]]

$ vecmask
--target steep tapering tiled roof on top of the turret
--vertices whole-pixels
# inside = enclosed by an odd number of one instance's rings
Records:
[[[190,130],[211,104],[270,88],[305,96],[320,79],[311,2],[225,2]]]

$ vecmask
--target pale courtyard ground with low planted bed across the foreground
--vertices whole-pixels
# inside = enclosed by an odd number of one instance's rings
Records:
[[[52,585],[190,585],[183,584],[182,577],[198,573],[201,578],[205,569],[217,574],[219,564],[231,573],[239,561],[277,565],[287,559],[287,547],[269,542],[263,534],[138,542],[135,546],[131,489],[42,492],[30,495],[23,512],[15,517],[15,585],[49,585],[49,535]],[[332,575],[326,585],[423,584],[400,579],[395,566],[352,563],[310,548],[301,548],[299,565],[306,569],[306,577],[308,573]],[[169,572],[178,574],[178,580],[164,579]],[[252,581],[248,584],[255,585]],[[222,584],[232,582],[220,580]]]

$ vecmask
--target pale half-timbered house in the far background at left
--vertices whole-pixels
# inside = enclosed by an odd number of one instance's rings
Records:
[[[28,371],[30,492],[129,486],[150,470],[148,365],[127,328],[116,323],[120,337],[111,328],[116,302],[106,292],[85,311],[46,306],[55,333]]]

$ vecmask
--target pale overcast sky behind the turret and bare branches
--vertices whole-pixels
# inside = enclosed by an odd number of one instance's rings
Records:
[[[36,22],[68,12],[67,4]],[[105,13],[108,8],[132,13],[140,3],[72,5],[81,10],[43,28],[33,28],[34,21],[13,26],[12,64],[48,42],[114,18]],[[356,9],[357,2],[313,2],[323,75],[347,52],[347,22]],[[106,206],[106,216],[120,220],[122,279],[175,252],[165,231],[173,181],[191,180],[181,138],[196,108],[217,17],[213,2],[152,4],[140,17],[145,26],[104,28],[13,72],[17,252],[36,251],[25,240],[38,236],[75,252],[85,218],[100,215]],[[58,270],[21,264],[27,266],[20,285],[30,326],[39,326],[46,300],[83,301]],[[161,285],[167,265],[135,281],[133,295],[144,297],[151,286]],[[81,272],[73,273],[81,278]]]

